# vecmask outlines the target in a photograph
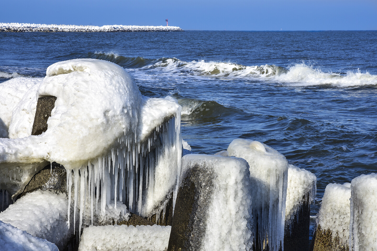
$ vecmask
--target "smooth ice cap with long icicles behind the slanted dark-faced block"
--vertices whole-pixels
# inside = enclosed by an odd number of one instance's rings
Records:
[[[263,143],[240,138],[233,140],[227,151],[230,156],[244,158],[250,165],[255,239],[259,239],[260,245],[268,239],[271,251],[279,250],[281,242],[284,251],[286,158]]]

